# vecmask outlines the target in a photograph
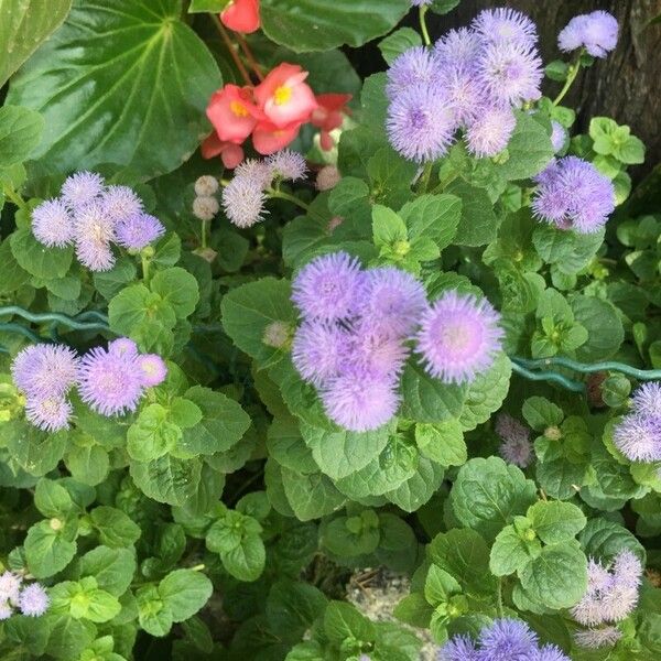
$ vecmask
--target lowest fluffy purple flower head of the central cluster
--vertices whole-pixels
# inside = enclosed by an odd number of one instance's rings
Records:
[[[328,418],[351,432],[384,425],[397,413],[400,401],[392,379],[369,378],[360,371],[332,379],[321,394]]]

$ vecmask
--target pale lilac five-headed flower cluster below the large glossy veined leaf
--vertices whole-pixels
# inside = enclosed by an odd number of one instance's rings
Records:
[[[64,182],[59,197],[34,208],[32,232],[48,248],[74,245],[78,261],[90,271],[109,271],[116,261],[112,243],[142,250],[165,228],[144,213],[132,188],[106,185],[94,172],[77,172]]]

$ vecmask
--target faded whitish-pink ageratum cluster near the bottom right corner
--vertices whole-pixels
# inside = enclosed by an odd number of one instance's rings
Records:
[[[587,565],[587,589],[572,608],[573,618],[587,627],[576,633],[582,647],[613,644],[621,635],[611,625],[624,620],[638,603],[642,563],[632,551],[624,549],[613,563],[604,566],[590,559]]]

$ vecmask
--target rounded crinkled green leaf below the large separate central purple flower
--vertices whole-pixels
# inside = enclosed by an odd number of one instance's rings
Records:
[[[464,464],[449,494],[455,517],[487,540],[516,514],[524,514],[535,499],[534,483],[499,457],[478,457]]]

